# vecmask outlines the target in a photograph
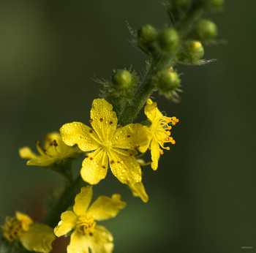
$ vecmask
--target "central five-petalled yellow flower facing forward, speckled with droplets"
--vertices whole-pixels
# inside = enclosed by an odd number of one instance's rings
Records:
[[[94,99],[89,120],[93,129],[80,122],[64,124],[60,129],[65,144],[78,144],[82,151],[93,151],[86,154],[80,171],[89,184],[97,184],[105,178],[108,165],[123,184],[141,181],[135,154],[138,150],[145,152],[148,147],[148,127],[129,124],[117,128],[118,119],[112,109],[105,99]]]

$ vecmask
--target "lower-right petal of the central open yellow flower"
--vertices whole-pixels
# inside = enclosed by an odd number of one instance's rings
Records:
[[[111,171],[121,183],[135,184],[141,181],[140,165],[129,151],[115,148],[108,156]]]

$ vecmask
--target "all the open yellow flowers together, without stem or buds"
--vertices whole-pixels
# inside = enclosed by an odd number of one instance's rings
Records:
[[[84,152],[80,176],[91,185],[104,179],[108,167],[118,180],[129,186],[135,197],[143,202],[148,201],[142,183],[140,156],[151,151],[151,167],[157,170],[162,149],[169,150],[165,143],[174,144],[170,129],[178,122],[176,117],[163,116],[157,103],[148,99],[145,114],[149,124],[118,125],[118,118],[113,106],[105,99],[94,99],[89,123],[81,122],[64,124],[58,132],[45,137],[45,145],[37,141],[34,154],[28,147],[20,148],[20,156],[29,159],[27,165],[56,168],[65,164],[68,159]],[[77,146],[75,146],[77,145]],[[73,147],[75,146],[75,147]],[[60,172],[60,171],[59,171]],[[61,214],[61,221],[54,228],[57,237],[69,235],[70,243],[67,252],[106,252],[113,251],[113,236],[96,222],[113,218],[126,205],[120,195],[101,196],[89,207],[92,197],[92,186],[82,187],[75,197],[72,210]],[[2,226],[4,238],[8,241],[18,240],[31,251],[50,252],[54,240],[53,230],[45,224],[34,224],[29,216],[17,212],[16,217],[7,217]],[[39,235],[44,235],[40,237]],[[42,239],[43,238],[43,239]]]

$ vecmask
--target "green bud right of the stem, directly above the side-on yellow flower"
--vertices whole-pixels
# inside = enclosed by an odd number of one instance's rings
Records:
[[[164,93],[175,90],[181,83],[177,72],[173,72],[170,69],[160,71],[157,76],[157,86],[159,91]]]

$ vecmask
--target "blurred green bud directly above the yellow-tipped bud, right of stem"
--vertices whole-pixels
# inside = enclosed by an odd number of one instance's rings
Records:
[[[197,23],[197,34],[200,39],[213,39],[217,36],[217,33],[217,26],[214,22],[203,19]]]

